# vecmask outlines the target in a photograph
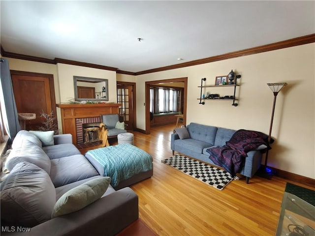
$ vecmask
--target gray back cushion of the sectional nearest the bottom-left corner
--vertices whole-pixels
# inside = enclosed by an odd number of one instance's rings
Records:
[[[55,187],[38,166],[18,163],[1,183],[1,222],[33,227],[51,218]]]

